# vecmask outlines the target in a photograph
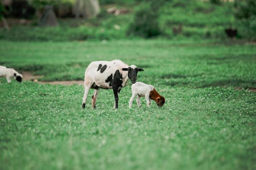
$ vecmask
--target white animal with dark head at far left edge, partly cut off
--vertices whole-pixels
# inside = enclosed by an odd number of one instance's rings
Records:
[[[0,65],[0,77],[6,77],[8,83],[11,83],[11,78],[13,77],[18,82],[22,82],[23,76],[19,74],[15,69],[8,68]]]

